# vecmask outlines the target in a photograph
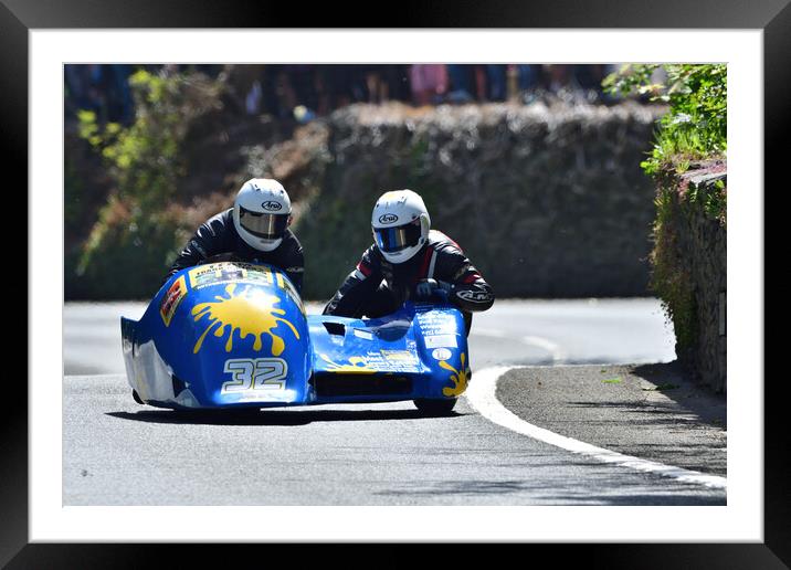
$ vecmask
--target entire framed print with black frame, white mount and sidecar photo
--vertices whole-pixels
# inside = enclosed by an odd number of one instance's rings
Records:
[[[0,560],[139,566],[158,542],[203,559],[340,542],[405,561],[397,546],[423,542],[623,568],[787,567],[763,188],[782,183],[766,175],[788,148],[788,2],[407,3],[387,22],[345,18],[3,0],[0,104],[8,165],[28,188],[30,335],[28,383],[8,382]],[[624,63],[632,75],[618,80]],[[662,119],[678,97],[651,97],[671,80],[667,93],[694,93],[684,101],[698,109],[718,85],[727,101],[697,123],[692,107]],[[629,82],[630,95],[607,88]],[[662,211],[645,170],[667,148],[660,126],[687,123],[689,152],[721,141],[694,180],[687,155],[673,166],[685,191],[735,189],[730,272],[713,297],[720,415],[693,413],[686,377],[662,380],[683,376],[671,361],[685,329],[676,310],[667,334],[644,293]],[[242,203],[245,184],[255,203]],[[725,198],[721,210],[707,200],[724,226]],[[389,226],[403,215],[411,225]],[[198,228],[230,232],[239,256],[212,260],[231,242]],[[294,235],[304,271],[270,254]],[[414,283],[398,297],[393,258],[412,249]],[[453,271],[451,251],[464,260]],[[189,255],[207,264],[171,265]],[[379,305],[338,308],[371,274]],[[450,308],[423,307],[423,294]],[[623,346],[600,350],[610,338]],[[360,388],[363,377],[376,381]],[[424,388],[434,378],[445,383]],[[449,399],[453,411],[436,408]],[[223,415],[245,401],[252,415]],[[684,453],[668,448],[685,429]]]

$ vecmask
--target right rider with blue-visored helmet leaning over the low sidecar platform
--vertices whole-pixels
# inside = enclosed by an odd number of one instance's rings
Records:
[[[440,295],[462,310],[470,334],[472,313],[489,308],[494,293],[458,244],[431,230],[423,199],[412,190],[386,192],[373,207],[371,228],[375,243],[324,314],[375,318],[407,299]]]

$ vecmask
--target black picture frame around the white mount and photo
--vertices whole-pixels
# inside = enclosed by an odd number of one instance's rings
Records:
[[[0,0],[0,114],[3,162],[13,165],[28,188],[28,33],[60,28],[613,28],[613,29],[757,29],[763,31],[764,78],[764,180],[782,183],[787,152],[791,150],[791,3],[790,0],[683,0],[664,2],[627,0],[573,0],[546,2],[413,2],[404,1],[384,17],[378,10],[349,3],[212,2],[209,0]],[[371,14],[369,21],[348,20],[349,13]],[[766,193],[764,193],[766,196]],[[766,258],[766,255],[764,255]],[[30,260],[29,260],[30,262]],[[33,299],[28,298],[28,303]],[[766,303],[766,300],[764,300]],[[766,352],[764,352],[766,353]],[[743,379],[742,379],[743,380]],[[778,379],[780,380],[780,379]],[[541,555],[552,563],[579,561],[609,568],[788,568],[791,563],[789,469],[784,456],[790,448],[784,416],[782,384],[764,384],[764,541],[762,543],[604,543],[604,545],[500,545],[502,556],[528,553],[539,563]],[[213,545],[67,545],[29,543],[28,540],[28,390],[7,384],[7,401],[0,414],[2,463],[0,467],[0,563],[8,568],[120,568],[157,566],[166,553],[202,562],[257,556],[256,546]],[[304,545],[303,545],[304,547]],[[470,545],[442,550],[449,561],[462,559]],[[267,557],[287,553],[287,545],[267,545]],[[321,545],[320,556],[333,559],[339,546]],[[444,548],[444,547],[442,547]],[[510,552],[519,548],[519,552]],[[317,549],[313,549],[314,553]],[[366,558],[387,560],[388,566],[413,563],[411,553],[397,545],[369,545]],[[175,551],[175,552],[173,552]],[[299,549],[304,556],[305,548]],[[360,556],[355,546],[355,557]],[[346,555],[346,551],[342,552]],[[525,559],[520,559],[526,562]],[[529,563],[529,562],[528,562]]]

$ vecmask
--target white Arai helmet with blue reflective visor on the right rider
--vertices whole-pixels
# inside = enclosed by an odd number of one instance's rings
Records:
[[[403,263],[412,258],[429,239],[431,218],[418,193],[394,190],[377,200],[371,228],[384,258],[390,263]]]

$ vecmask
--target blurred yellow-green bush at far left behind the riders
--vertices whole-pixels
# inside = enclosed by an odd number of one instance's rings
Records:
[[[137,71],[129,86],[136,116],[128,127],[78,113],[80,136],[101,154],[114,187],[74,262],[71,283],[80,282],[84,296],[125,297],[159,285],[184,239],[168,209],[184,175],[182,142],[196,118],[219,108],[223,89],[221,81],[167,70]]]

